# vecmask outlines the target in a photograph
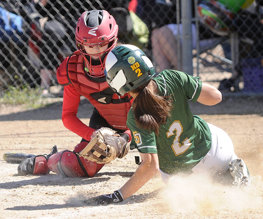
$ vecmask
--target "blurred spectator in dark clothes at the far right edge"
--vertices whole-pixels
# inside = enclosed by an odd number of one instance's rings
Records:
[[[263,56],[262,5],[262,0],[254,1],[249,7],[241,8],[235,16],[232,29],[239,37],[239,62],[231,77],[220,81],[220,91],[239,91],[236,84],[243,75],[242,63]]]

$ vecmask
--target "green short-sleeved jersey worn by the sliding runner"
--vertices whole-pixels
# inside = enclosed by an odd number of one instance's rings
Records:
[[[198,77],[175,70],[164,70],[153,80],[159,94],[171,96],[171,117],[154,131],[136,126],[133,106],[127,116],[127,127],[131,130],[131,145],[140,153],[157,153],[160,169],[168,174],[191,172],[191,169],[211,148],[211,133],[207,123],[193,115],[188,100],[196,102],[202,81]]]

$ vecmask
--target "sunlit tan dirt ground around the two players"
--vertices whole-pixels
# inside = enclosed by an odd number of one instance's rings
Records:
[[[262,96],[223,96],[216,106],[190,106],[194,114],[230,135],[252,177],[248,190],[191,177],[175,177],[165,186],[157,174],[122,203],[96,206],[90,198],[119,189],[136,170],[138,152],[129,151],[93,178],[19,176],[18,164],[3,161],[3,153],[48,154],[53,145],[73,150],[80,137],[63,126],[61,99],[38,110],[0,105],[0,218],[262,218]],[[85,123],[91,109],[88,101],[81,101],[78,116]]]

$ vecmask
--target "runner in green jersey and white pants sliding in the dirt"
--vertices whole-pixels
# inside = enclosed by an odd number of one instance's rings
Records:
[[[249,187],[248,169],[235,154],[230,137],[189,109],[188,101],[219,103],[222,94],[218,89],[175,70],[154,77],[152,62],[133,45],[120,45],[109,52],[105,74],[118,95],[128,93],[134,98],[127,127],[142,163],[119,190],[96,197],[98,204],[127,199],[158,171],[164,182],[182,172],[213,177],[228,171],[234,186]]]

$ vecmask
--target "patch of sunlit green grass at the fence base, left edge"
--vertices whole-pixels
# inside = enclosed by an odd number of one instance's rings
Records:
[[[41,88],[10,86],[1,94],[1,104],[24,105],[25,108],[37,109],[48,104],[46,98],[41,96]]]

